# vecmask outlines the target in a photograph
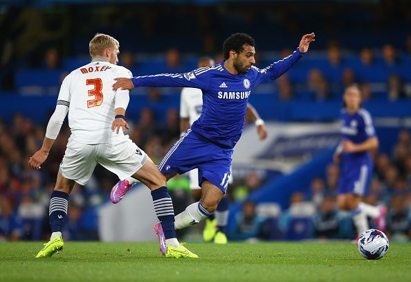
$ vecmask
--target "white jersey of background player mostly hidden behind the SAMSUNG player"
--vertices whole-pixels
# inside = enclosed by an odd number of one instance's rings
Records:
[[[203,109],[203,92],[201,89],[185,87],[181,90],[180,117],[189,118],[190,125],[197,121]]]

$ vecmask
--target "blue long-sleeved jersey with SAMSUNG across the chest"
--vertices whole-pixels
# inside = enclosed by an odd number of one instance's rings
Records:
[[[264,80],[275,80],[302,57],[297,49],[288,57],[265,69],[251,67],[247,73],[233,75],[224,62],[189,73],[163,73],[132,78],[135,87],[193,87],[203,92],[201,116],[191,128],[193,132],[223,146],[234,148],[239,140],[244,116],[254,87]]]

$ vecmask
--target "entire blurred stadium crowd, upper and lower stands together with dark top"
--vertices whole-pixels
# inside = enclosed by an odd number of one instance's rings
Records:
[[[191,71],[200,55],[212,55],[221,62],[221,44],[235,32],[255,37],[256,65],[264,68],[291,54],[301,36],[311,31],[316,32],[317,41],[309,54],[275,82],[259,85],[253,96],[264,96],[265,104],[340,101],[343,89],[356,82],[364,100],[380,100],[381,105],[411,98],[411,17],[410,9],[401,6],[407,1],[400,1],[401,5],[390,0],[369,5],[308,1],[300,3],[299,9],[282,2],[116,3],[92,6],[91,13],[86,4],[33,8],[26,1],[16,1],[16,6],[3,6],[0,13],[0,99],[3,94],[57,96],[67,73],[90,62],[89,40],[97,32],[116,37],[120,64],[134,75],[143,75]],[[135,89],[131,94],[147,95],[151,106],[164,94],[178,95],[179,89]],[[158,118],[155,110],[141,109],[135,122],[129,121],[129,136],[158,163],[179,137],[179,112],[170,108]],[[0,240],[48,239],[49,197],[70,132],[64,125],[44,167],[30,170],[28,157],[42,145],[45,128],[46,120],[37,125],[21,114],[11,123],[0,121]],[[410,133],[405,131],[391,155],[374,154],[371,193],[365,199],[387,205],[387,234],[396,240],[411,238],[410,154]],[[246,201],[235,215],[230,238],[355,237],[349,215],[336,211],[338,166],[330,164],[326,175],[326,179],[313,179],[311,193],[293,194],[290,208],[282,211],[275,203],[255,205],[247,200],[264,182],[257,173],[250,173],[229,189],[232,201]],[[66,239],[98,239],[96,207],[109,199],[116,181],[98,166],[86,186],[75,186]],[[187,179],[173,179],[169,186],[176,206],[190,202]],[[179,197],[182,194],[185,197]]]

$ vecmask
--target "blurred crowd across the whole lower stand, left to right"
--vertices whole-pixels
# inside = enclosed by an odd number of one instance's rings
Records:
[[[129,132],[156,162],[179,136],[179,117],[175,109],[167,123],[154,120],[149,109],[140,113]],[[0,122],[0,238],[1,240],[39,240],[48,236],[48,202],[55,176],[64,155],[69,128],[64,125],[51,154],[41,170],[30,170],[28,157],[41,145],[45,126],[16,114],[11,124]],[[365,202],[385,205],[387,235],[391,240],[411,239],[411,138],[402,130],[392,154],[373,154],[375,168]],[[325,179],[312,179],[309,193],[294,193],[289,209],[275,203],[255,205],[248,195],[263,184],[257,173],[248,173],[230,187],[232,202],[245,201],[230,229],[232,240],[299,240],[304,238],[355,238],[351,215],[336,209],[339,168],[329,164]],[[240,181],[238,181],[240,180]],[[98,240],[96,208],[109,201],[115,175],[98,166],[86,186],[76,185],[70,197],[65,236],[69,240]],[[185,177],[168,184],[176,212],[191,202]],[[304,190],[304,189],[302,189]],[[306,189],[307,190],[307,189]],[[370,221],[370,226],[374,226]]]

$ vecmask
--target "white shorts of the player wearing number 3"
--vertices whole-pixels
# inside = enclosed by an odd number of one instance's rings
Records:
[[[60,173],[80,185],[86,184],[97,164],[101,164],[121,180],[134,175],[147,160],[147,154],[126,135],[120,135],[111,143],[82,144],[69,138],[66,152],[60,164]]]

